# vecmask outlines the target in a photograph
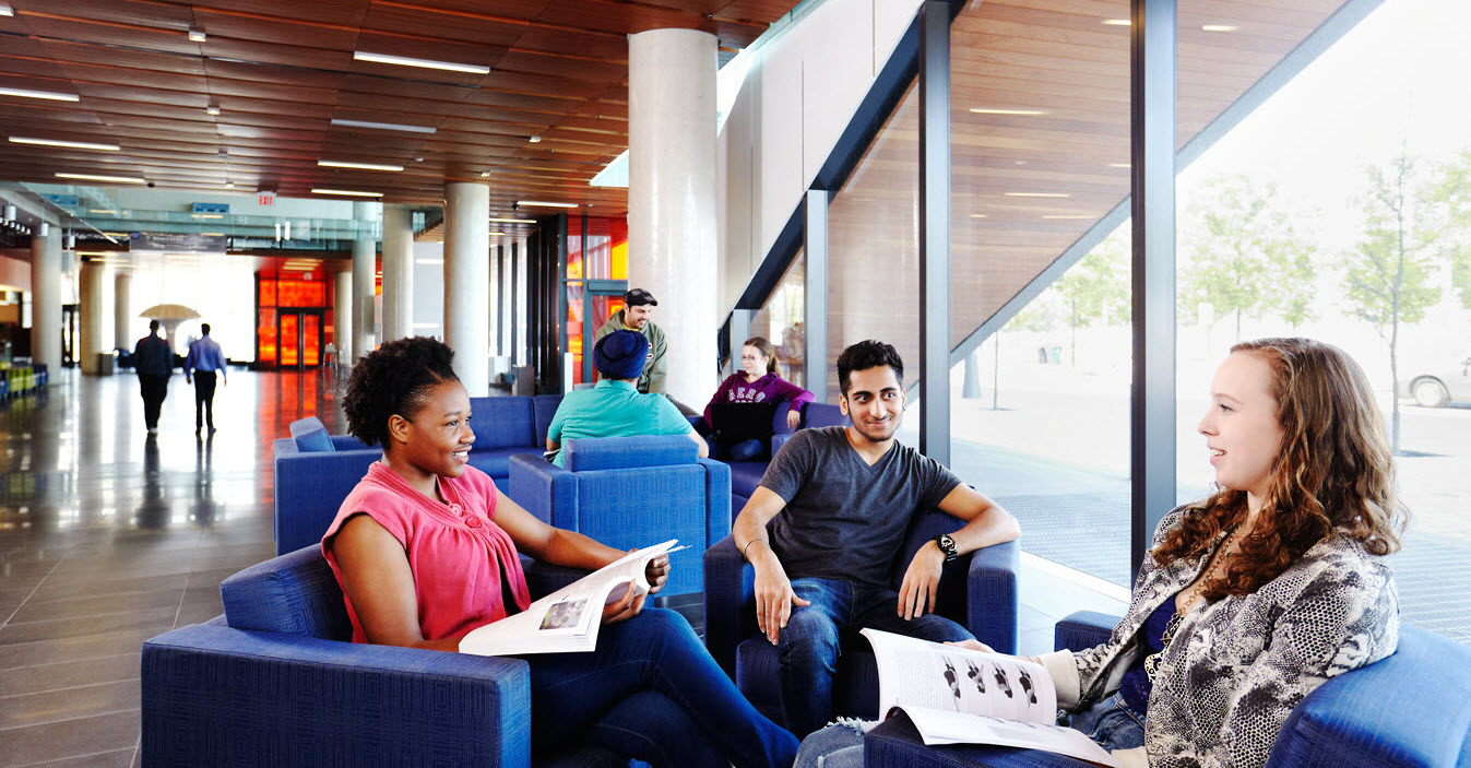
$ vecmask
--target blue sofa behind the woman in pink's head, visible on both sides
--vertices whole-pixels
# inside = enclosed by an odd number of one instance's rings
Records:
[[[541,455],[560,402],[560,394],[471,397],[475,433],[471,466],[509,493],[510,456]],[[368,447],[355,437],[328,435],[316,418],[291,424],[291,437],[277,440],[272,450],[277,555],[321,540],[343,499],[368,472],[368,465],[382,456],[381,447]]]

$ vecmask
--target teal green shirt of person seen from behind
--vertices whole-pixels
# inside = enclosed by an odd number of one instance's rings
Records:
[[[634,437],[640,434],[688,434],[690,419],[662,394],[640,394],[634,384],[605,378],[590,390],[562,397],[547,440],[563,444],[581,437]],[[558,452],[552,463],[562,466]]]

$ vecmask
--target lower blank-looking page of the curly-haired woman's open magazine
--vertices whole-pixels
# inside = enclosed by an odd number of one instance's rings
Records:
[[[997,744],[1043,749],[1080,761],[1121,768],[1118,759],[1091,739],[1072,728],[1019,722],[1015,719],[968,715],[964,712],[902,706],[925,744]]]

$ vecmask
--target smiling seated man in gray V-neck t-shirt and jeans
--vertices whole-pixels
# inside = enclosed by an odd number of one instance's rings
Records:
[[[958,555],[1019,533],[1005,509],[894,440],[905,410],[905,366],[894,347],[853,344],[838,358],[837,375],[838,405],[852,424],[794,434],[733,527],[755,568],[756,622],[778,646],[781,706],[797,737],[833,717],[840,634],[872,627],[936,641],[971,639],[933,614],[940,571]],[[888,574],[909,521],[936,506],[966,524],[919,547],[894,591]]]

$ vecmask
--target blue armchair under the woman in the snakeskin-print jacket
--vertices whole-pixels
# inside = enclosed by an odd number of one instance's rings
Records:
[[[1058,649],[1105,641],[1118,616],[1074,614],[1056,627]],[[1471,649],[1402,627],[1399,650],[1312,691],[1283,724],[1267,768],[1452,768],[1471,765]],[[1087,768],[1046,752],[927,747],[894,717],[863,740],[868,768]]]

